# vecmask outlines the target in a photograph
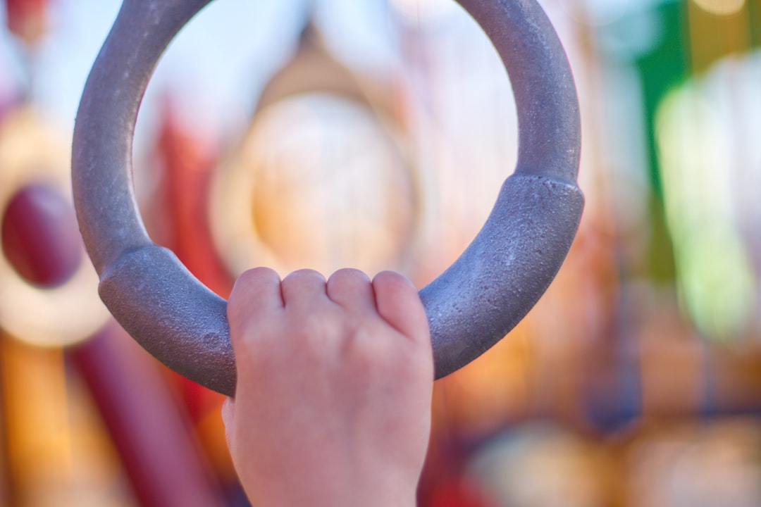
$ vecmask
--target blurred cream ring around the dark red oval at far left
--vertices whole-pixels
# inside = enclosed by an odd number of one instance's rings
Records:
[[[72,209],[68,168],[67,144],[43,125],[33,109],[23,107],[6,113],[0,125],[0,210],[8,211],[11,201],[30,184],[36,190],[27,198],[53,194],[59,200],[49,201],[53,208],[38,210],[37,218],[44,220],[58,213],[63,202],[63,208]],[[66,212],[50,227],[64,224]],[[52,254],[64,256],[57,287],[34,285],[33,280],[22,277],[14,268],[5,249],[0,255],[0,327],[30,344],[74,344],[87,338],[108,318],[97,295],[97,274],[89,262],[81,261],[84,255],[81,241],[77,244],[78,254],[74,254],[70,231],[57,234],[64,236],[62,244],[56,245],[62,246],[63,251]],[[52,242],[48,246],[53,247]],[[37,255],[44,255],[45,246],[37,248]]]

